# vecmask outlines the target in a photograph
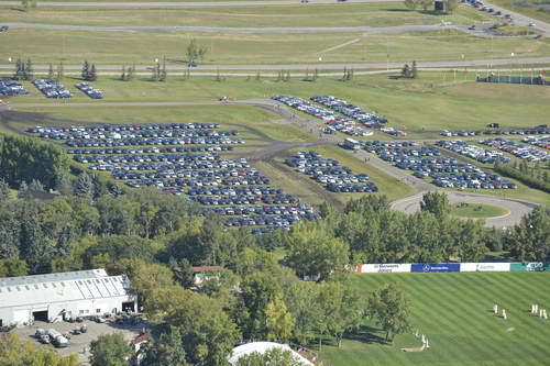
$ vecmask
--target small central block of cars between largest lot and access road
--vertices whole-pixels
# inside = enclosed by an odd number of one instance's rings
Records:
[[[378,187],[369,181],[366,174],[354,175],[349,167],[336,159],[323,158],[319,153],[299,152],[285,163],[296,171],[311,177],[332,192],[377,192]]]

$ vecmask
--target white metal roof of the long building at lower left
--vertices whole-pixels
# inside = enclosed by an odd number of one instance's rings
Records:
[[[57,275],[57,276],[56,276]],[[108,276],[105,269],[0,279],[0,308],[37,307],[52,302],[97,300],[129,296],[125,276]]]

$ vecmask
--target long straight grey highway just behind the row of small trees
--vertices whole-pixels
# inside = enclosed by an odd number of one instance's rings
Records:
[[[198,67],[191,68],[191,71],[200,71],[200,70],[306,70],[306,69],[321,69],[321,70],[342,70],[344,67],[353,68],[355,70],[361,69],[400,69],[404,63],[339,63],[339,64],[283,64],[283,65],[200,65]],[[525,57],[525,58],[493,58],[493,59],[472,59],[472,60],[447,60],[447,62],[418,62],[417,65],[420,69],[428,68],[463,68],[463,67],[480,67],[484,69],[487,66],[501,66],[501,65],[535,65],[535,64],[550,64],[550,57]],[[128,66],[128,65],[127,65]],[[135,69],[138,71],[146,71],[151,69],[151,66],[147,65],[136,65]],[[0,71],[9,70],[13,71],[13,64],[3,64],[0,65]],[[35,70],[47,70],[48,65],[33,65]],[[118,75],[120,74],[120,69],[122,65],[97,65],[98,71],[103,75],[106,71],[112,70]],[[64,65],[64,69],[67,71],[70,70],[80,70],[82,65]],[[167,65],[166,69],[168,71],[179,70],[183,71],[187,69],[185,65]],[[223,73],[227,75],[226,73]],[[356,73],[355,73],[356,74]]]

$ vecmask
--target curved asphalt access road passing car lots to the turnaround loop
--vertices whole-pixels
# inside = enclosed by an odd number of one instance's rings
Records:
[[[61,108],[72,108],[72,107],[185,107],[185,106],[221,106],[226,104],[221,101],[204,101],[204,102],[98,102],[98,103],[14,103],[11,107],[20,107],[20,108],[41,108],[41,107],[61,107]],[[295,115],[293,111],[288,110],[284,104],[278,103],[277,101],[271,99],[248,99],[248,100],[238,100],[231,101],[228,104],[241,104],[241,106],[251,106],[256,108],[267,109],[274,113],[279,114],[284,119],[284,123],[292,124],[294,126],[300,127],[306,132],[311,133],[315,129],[312,127],[314,123],[318,121],[307,120]],[[278,121],[282,122],[282,121]],[[311,123],[309,123],[311,122]],[[320,138],[324,141],[324,143],[336,143],[334,136],[330,135],[320,135]],[[402,211],[405,213],[413,213],[420,209],[420,201],[422,195],[429,191],[444,191],[451,203],[486,203],[502,207],[509,211],[508,214],[499,218],[492,218],[485,220],[486,226],[495,226],[495,228],[510,228],[515,224],[519,223],[521,218],[529,213],[534,208],[536,208],[537,203],[529,202],[526,200],[513,199],[504,197],[505,190],[503,190],[503,197],[499,196],[488,196],[488,195],[479,195],[479,193],[469,193],[461,191],[446,191],[426,182],[422,179],[418,179],[406,171],[387,164],[386,162],[380,159],[376,155],[370,154],[365,151],[359,151],[356,153],[349,152],[350,155],[360,158],[365,162],[365,164],[370,164],[373,167],[386,173],[387,175],[403,181],[404,184],[413,187],[418,193],[413,197],[407,197],[402,200],[395,201],[392,203],[392,209]]]

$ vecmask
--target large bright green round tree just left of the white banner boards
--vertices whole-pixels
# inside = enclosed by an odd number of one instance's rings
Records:
[[[328,233],[320,223],[295,226],[287,243],[285,259],[300,277],[326,280],[336,267],[348,264],[349,246]]]

